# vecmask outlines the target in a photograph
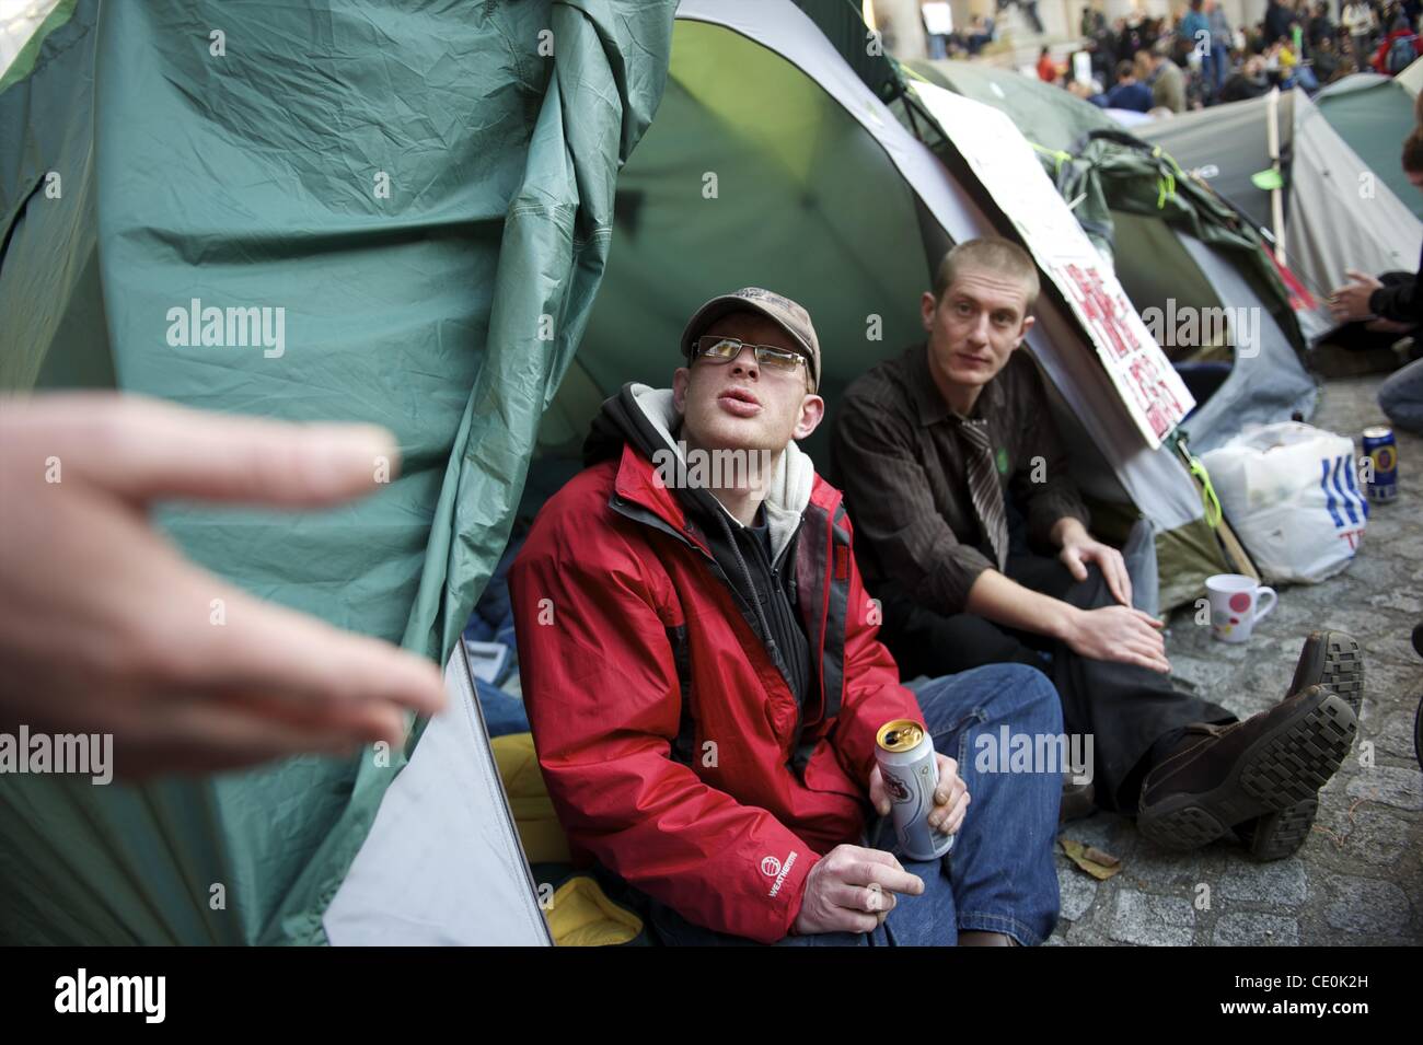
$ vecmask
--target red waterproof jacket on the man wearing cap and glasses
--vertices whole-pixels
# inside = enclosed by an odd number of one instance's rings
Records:
[[[795,540],[814,663],[801,715],[655,475],[632,445],[581,472],[509,570],[534,742],[575,860],[771,943],[820,856],[859,842],[878,728],[922,718],[875,638],[837,489],[814,475]],[[788,765],[801,721],[803,775]]]

